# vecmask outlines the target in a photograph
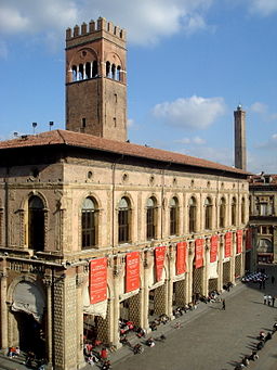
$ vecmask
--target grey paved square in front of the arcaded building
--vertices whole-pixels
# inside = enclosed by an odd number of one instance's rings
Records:
[[[266,267],[269,276],[277,278],[277,266]],[[263,294],[277,295],[271,279],[265,290],[259,285],[239,283],[222,297],[226,301],[226,310],[222,304],[200,304],[199,307],[179,319],[181,328],[174,322],[160,326],[158,331],[149,333],[158,337],[164,333],[164,342],[156,342],[153,348],[144,344],[142,355],[133,355],[131,348],[122,347],[110,355],[113,370],[230,370],[245,356],[251,353],[256,344],[256,335],[261,330],[268,331],[277,321],[277,307],[263,304]],[[277,306],[277,301],[276,301]],[[132,345],[143,343],[132,340]],[[6,357],[0,357],[0,369],[23,370],[25,366],[15,363]],[[87,366],[85,370],[98,369]],[[256,362],[251,362],[250,370],[277,369],[277,333],[260,352]]]

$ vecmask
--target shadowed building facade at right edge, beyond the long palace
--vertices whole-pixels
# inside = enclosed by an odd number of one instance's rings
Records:
[[[249,225],[254,234],[258,263],[277,261],[277,176],[251,176],[249,183]]]

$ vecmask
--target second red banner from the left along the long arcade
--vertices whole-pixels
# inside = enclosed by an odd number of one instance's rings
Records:
[[[140,253],[131,252],[126,255],[126,293],[140,286]]]

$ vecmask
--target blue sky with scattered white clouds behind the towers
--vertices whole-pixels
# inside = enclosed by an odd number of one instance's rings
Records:
[[[277,0],[2,0],[0,138],[65,128],[65,29],[105,16],[128,33],[131,142],[277,173]]]

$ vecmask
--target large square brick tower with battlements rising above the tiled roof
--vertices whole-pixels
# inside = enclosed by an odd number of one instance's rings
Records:
[[[127,140],[126,31],[100,17],[66,30],[66,129]]]

